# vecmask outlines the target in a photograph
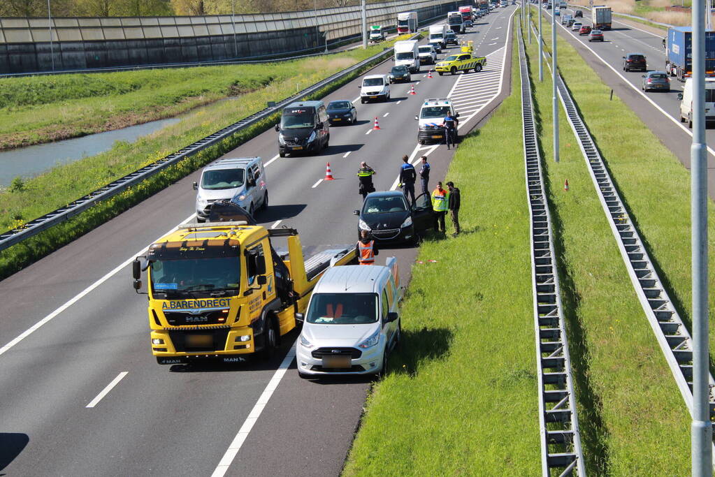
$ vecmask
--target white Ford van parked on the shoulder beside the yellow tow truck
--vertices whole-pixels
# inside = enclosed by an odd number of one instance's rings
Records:
[[[329,268],[313,289],[295,354],[298,375],[376,374],[400,342],[402,299],[397,259],[385,266]]]

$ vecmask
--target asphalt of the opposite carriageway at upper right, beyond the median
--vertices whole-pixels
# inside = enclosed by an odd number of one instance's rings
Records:
[[[568,14],[578,7],[568,9]],[[551,10],[543,10],[545,19],[551,24]],[[583,9],[584,24],[591,24],[591,12]],[[556,19],[559,21],[558,16]],[[559,34],[573,45],[598,76],[610,86],[638,117],[654,132],[660,141],[670,149],[690,169],[691,130],[687,123],[680,122],[680,103],[678,93],[683,91],[684,83],[671,78],[671,91],[641,91],[641,71],[623,71],[623,56],[628,53],[641,53],[646,56],[649,71],[664,71],[666,51],[663,48],[663,36],[651,33],[629,22],[613,21],[613,29],[603,32],[603,43],[588,42],[588,36],[566,29],[559,24]],[[551,44],[551,39],[546,39]],[[561,61],[563,57],[560,57]],[[545,71],[548,70],[545,68]],[[608,101],[604,97],[603,101]],[[706,132],[708,148],[708,193],[715,199],[715,126],[710,124]]]

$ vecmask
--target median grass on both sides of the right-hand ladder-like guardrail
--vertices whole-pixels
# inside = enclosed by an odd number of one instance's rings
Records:
[[[549,38],[544,24],[544,37]],[[560,68],[588,128],[638,221],[651,256],[670,279],[689,266],[687,173],[566,41]],[[537,43],[528,48],[574,358],[581,439],[591,475],[689,473],[689,413],[633,290],[588,166],[560,108],[553,162],[551,73],[538,83]],[[570,191],[563,191],[568,179]],[[677,283],[678,295],[688,294]]]

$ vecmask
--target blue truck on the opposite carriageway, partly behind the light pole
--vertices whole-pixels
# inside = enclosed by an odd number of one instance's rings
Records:
[[[691,26],[672,26],[668,29],[666,73],[685,81],[693,73],[693,45]],[[715,76],[715,31],[705,32],[705,74]]]

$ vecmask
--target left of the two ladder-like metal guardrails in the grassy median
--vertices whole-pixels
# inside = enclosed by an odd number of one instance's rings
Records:
[[[526,189],[531,218],[531,273],[533,283],[536,367],[539,391],[539,441],[544,477],[586,476],[578,429],[576,398],[571,376],[566,326],[561,305],[556,254],[548,199],[543,187],[541,154],[533,119],[531,84],[521,29],[519,61]]]

